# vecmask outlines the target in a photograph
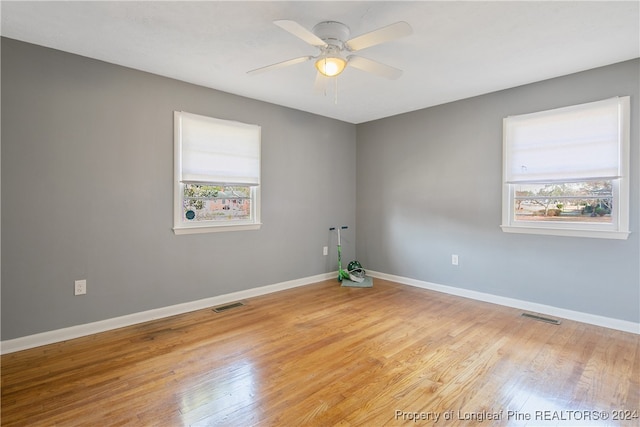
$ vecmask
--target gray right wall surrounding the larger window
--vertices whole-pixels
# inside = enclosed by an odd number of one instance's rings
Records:
[[[639,64],[359,125],[358,259],[387,274],[639,322]],[[616,95],[631,95],[629,239],[503,233],[502,118]]]

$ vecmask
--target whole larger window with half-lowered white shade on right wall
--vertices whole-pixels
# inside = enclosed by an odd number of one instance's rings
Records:
[[[626,239],[629,97],[503,121],[506,232]]]

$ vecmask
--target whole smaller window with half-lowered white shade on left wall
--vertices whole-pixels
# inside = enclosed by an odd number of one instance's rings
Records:
[[[174,112],[174,232],[260,228],[260,127]]]

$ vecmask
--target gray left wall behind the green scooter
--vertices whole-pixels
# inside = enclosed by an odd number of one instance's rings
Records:
[[[174,110],[262,126],[261,230],[174,235]],[[355,146],[352,124],[2,39],[2,339],[335,270]]]

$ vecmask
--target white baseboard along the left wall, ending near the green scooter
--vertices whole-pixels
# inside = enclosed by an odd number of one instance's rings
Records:
[[[157,308],[140,313],[128,314],[126,316],[114,317],[112,319],[100,320],[98,322],[84,325],[71,326],[69,328],[57,329],[54,331],[42,332],[0,342],[0,354],[13,353],[20,350],[53,344],[87,335],[97,334],[112,329],[123,328],[137,323],[148,322],[164,317],[175,316],[177,314],[188,313],[190,311],[201,310],[217,305],[227,304],[247,298],[270,294],[272,292],[285,289],[296,288],[298,286],[309,285],[336,277],[337,272],[318,274],[316,276],[305,277],[303,279],[290,280],[274,285],[262,286],[259,288],[247,289],[225,295],[218,295],[198,301],[176,304],[169,307]]]

